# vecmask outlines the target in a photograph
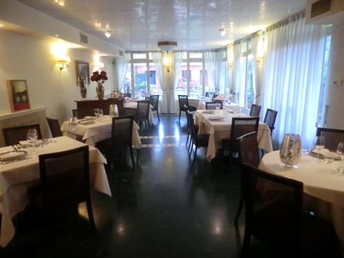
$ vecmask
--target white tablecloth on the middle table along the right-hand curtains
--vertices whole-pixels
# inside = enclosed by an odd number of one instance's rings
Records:
[[[230,127],[233,117],[249,117],[246,114],[229,114],[228,110],[214,110],[215,114],[202,114],[202,111],[196,111],[195,124],[200,126],[198,133],[209,133],[208,150],[206,159],[215,158],[216,150],[222,147],[222,140],[230,138]],[[208,120],[211,116],[221,116],[221,121]],[[259,122],[258,127],[258,146],[265,151],[272,151],[272,143],[270,138],[270,129],[264,122]]]

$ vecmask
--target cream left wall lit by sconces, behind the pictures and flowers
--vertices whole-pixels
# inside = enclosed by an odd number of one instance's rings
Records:
[[[69,118],[71,109],[76,107],[74,100],[80,99],[74,61],[89,62],[91,75],[94,59],[91,50],[69,49],[67,55],[72,62],[61,71],[50,42],[0,31],[0,114],[11,112],[6,80],[25,79],[31,107],[47,107],[47,116],[60,122]],[[100,61],[109,77],[104,84],[105,93],[109,94],[114,89],[113,58],[102,57]],[[89,85],[87,98],[95,98],[95,86],[94,82]]]

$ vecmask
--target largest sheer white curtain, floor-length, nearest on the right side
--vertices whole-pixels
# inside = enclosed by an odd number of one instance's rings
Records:
[[[279,113],[272,138],[301,135],[312,147],[316,133],[326,30],[299,19],[266,33],[268,49],[263,80],[263,107]]]

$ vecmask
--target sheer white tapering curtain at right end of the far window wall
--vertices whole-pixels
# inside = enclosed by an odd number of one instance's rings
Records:
[[[203,52],[208,78],[211,80],[211,83],[213,83],[216,94],[219,94],[220,92],[224,93],[224,53],[226,54],[224,51],[206,50]]]

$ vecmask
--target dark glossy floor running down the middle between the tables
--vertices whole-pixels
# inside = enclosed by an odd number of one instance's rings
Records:
[[[92,191],[98,233],[89,233],[85,205],[46,229],[26,215],[2,257],[238,257],[244,229],[233,220],[239,172],[205,150],[193,166],[184,146],[186,120],[161,116],[143,133],[136,169],[130,159],[108,173],[113,197]],[[153,145],[151,145],[153,144]],[[252,242],[252,257],[266,250]]]

